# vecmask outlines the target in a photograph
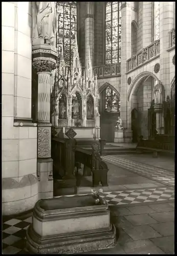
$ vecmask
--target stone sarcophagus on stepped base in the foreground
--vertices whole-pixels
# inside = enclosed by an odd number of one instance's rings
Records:
[[[27,249],[38,254],[72,254],[112,248],[116,229],[106,202],[92,195],[39,200],[27,229]]]

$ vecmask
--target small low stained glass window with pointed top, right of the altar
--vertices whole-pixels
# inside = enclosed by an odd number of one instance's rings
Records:
[[[120,112],[119,96],[110,87],[105,89],[105,112]]]

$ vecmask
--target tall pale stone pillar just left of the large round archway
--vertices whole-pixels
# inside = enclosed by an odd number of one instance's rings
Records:
[[[124,127],[124,142],[131,141],[131,123],[128,122],[128,111],[131,113],[131,105],[127,105],[127,75],[126,60],[131,57],[131,2],[122,2],[122,35],[121,35],[121,119]]]

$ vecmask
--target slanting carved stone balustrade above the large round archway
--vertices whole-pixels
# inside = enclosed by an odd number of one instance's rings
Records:
[[[160,54],[160,40],[154,41],[150,46],[143,48],[141,52],[127,60],[127,72],[137,68],[147,60]]]

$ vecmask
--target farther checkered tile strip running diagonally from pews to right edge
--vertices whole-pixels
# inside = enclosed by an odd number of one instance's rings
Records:
[[[146,176],[147,178],[159,181],[169,186],[174,186],[174,174],[168,170],[124,159],[116,155],[102,156],[102,159],[109,163],[118,165],[119,167],[128,169],[130,172]]]

